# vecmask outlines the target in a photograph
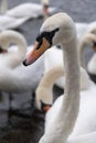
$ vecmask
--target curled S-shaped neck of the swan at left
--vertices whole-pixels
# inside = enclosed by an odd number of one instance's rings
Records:
[[[4,41],[4,47],[9,47],[10,44],[17,44],[18,50],[13,52],[8,52],[6,65],[8,67],[14,68],[19,66],[26,53],[26,42],[25,38],[18,32],[13,31],[7,31],[6,35],[3,36]]]

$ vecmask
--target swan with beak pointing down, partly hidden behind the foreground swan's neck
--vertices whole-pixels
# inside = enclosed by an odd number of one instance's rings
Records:
[[[64,76],[64,67],[61,65],[51,68],[44,74],[35,90],[35,105],[39,110],[46,112],[53,105],[53,91],[52,91],[53,85],[55,80],[57,80],[57,78],[63,76]],[[82,67],[81,67],[79,84],[81,84],[79,87],[81,90],[88,90],[89,87],[94,85],[89,79],[89,76],[87,75],[86,70]]]

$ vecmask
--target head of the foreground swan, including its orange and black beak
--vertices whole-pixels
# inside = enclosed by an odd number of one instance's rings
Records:
[[[73,37],[74,31],[74,22],[66,13],[62,12],[47,18],[41,26],[34,50],[26,55],[23,64],[25,66],[32,64],[53,45],[67,43]]]

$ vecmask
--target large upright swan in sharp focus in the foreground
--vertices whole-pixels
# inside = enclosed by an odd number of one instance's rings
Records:
[[[68,136],[72,139],[96,130],[96,88],[92,86],[90,92],[79,92],[76,30],[73,20],[66,13],[56,13],[45,20],[34,50],[29,53],[23,64],[28,66],[34,63],[47,48],[57,44],[62,45],[64,55],[65,94],[46,113],[45,133],[40,143],[64,143]]]

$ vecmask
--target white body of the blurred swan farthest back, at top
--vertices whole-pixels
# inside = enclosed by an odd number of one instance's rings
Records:
[[[56,11],[55,8],[49,8],[50,13],[53,13],[55,11]],[[29,2],[29,3],[19,4],[10,10],[8,10],[6,14],[9,16],[13,16],[13,18],[32,19],[32,18],[42,16],[43,10],[42,10],[41,4]]]

